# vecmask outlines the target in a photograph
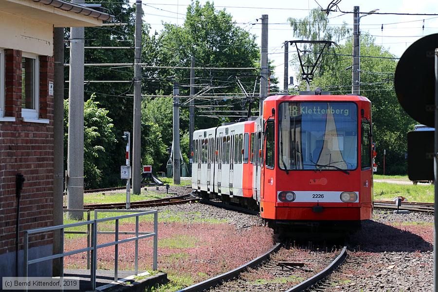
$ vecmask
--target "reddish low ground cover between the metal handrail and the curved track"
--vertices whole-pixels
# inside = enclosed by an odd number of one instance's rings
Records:
[[[140,231],[153,231],[153,224],[141,222]],[[99,229],[100,230],[100,229]],[[133,231],[132,223],[120,224],[121,231]],[[108,230],[106,230],[108,231]],[[159,223],[158,268],[164,272],[190,275],[201,281],[221,274],[256,258],[269,250],[274,242],[271,229],[252,226],[236,230],[227,223]],[[130,235],[120,235],[128,238]],[[98,244],[114,240],[114,235],[99,235]],[[139,241],[139,270],[151,270],[152,237]],[[86,246],[86,237],[67,239],[65,250]],[[119,245],[119,269],[134,269],[134,241]],[[114,269],[114,247],[98,249],[97,267]],[[64,259],[66,269],[85,269],[86,254]]]

